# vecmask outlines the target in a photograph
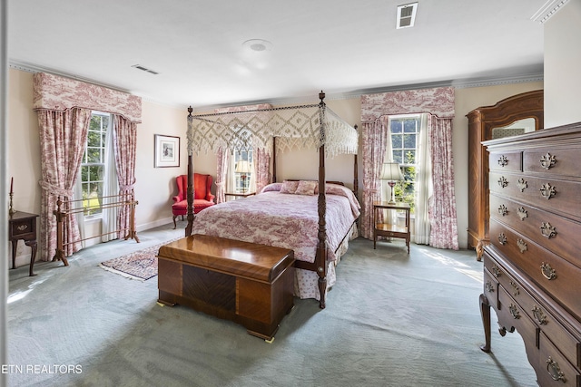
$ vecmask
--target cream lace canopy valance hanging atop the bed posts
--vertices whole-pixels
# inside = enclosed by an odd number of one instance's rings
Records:
[[[324,98],[324,94],[323,94]],[[222,149],[318,150],[357,154],[358,133],[324,103],[188,116],[188,154]]]

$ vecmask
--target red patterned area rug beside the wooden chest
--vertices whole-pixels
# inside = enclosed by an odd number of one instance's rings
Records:
[[[120,276],[146,281],[157,276],[157,253],[160,247],[178,239],[180,237],[135,251],[126,256],[109,259],[100,263],[99,266]]]

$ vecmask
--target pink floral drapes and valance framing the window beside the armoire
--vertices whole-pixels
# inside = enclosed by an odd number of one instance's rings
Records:
[[[432,162],[433,195],[429,200],[429,245],[458,249],[458,219],[454,195],[451,120],[454,118],[454,88],[443,87],[361,96],[363,129],[363,217],[361,234],[373,237],[373,201],[379,199],[379,173],[386,150],[383,117],[429,113],[429,153]],[[433,240],[432,240],[433,238]]]

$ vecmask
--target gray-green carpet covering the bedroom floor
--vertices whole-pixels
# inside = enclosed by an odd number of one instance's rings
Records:
[[[182,227],[184,224],[182,223]],[[70,266],[10,270],[10,386],[536,386],[518,334],[482,353],[482,264],[472,251],[350,243],[327,308],[295,298],[273,343],[241,325],[157,305],[145,282],[98,266],[179,237],[86,248]]]

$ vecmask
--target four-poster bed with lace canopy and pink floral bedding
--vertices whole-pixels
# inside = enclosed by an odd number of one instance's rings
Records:
[[[320,92],[319,98],[318,104],[201,115],[192,115],[192,108],[188,109],[188,224],[185,236],[189,237],[193,232],[193,234],[228,237],[295,250],[295,257],[297,257],[295,274],[304,275],[295,278],[295,292],[300,292],[297,282],[300,281],[302,285],[309,283],[311,287],[314,287],[314,291],[310,289],[299,296],[317,298],[320,300],[320,307],[324,308],[328,276],[331,275],[334,281],[336,262],[333,261],[338,261],[339,256],[344,253],[350,237],[357,235],[356,220],[359,218],[357,192],[353,194],[350,189],[333,184],[335,182],[326,181],[325,158],[338,154],[355,155],[353,185],[357,190],[358,133],[357,127],[351,127],[326,107],[323,102],[325,98],[323,92]],[[310,198],[305,198],[307,202],[310,200],[309,203],[293,201],[293,204],[286,204],[285,208],[284,204],[281,205],[285,200],[282,200],[281,196],[274,198],[272,195],[284,191],[282,186],[285,185],[285,183],[276,183],[276,148],[319,150],[319,179],[316,183],[310,181],[310,184],[307,184],[315,187],[312,193],[305,195],[305,197],[310,196]],[[197,214],[194,222],[193,153],[201,150],[218,152],[219,150],[259,149],[271,154],[273,159],[273,184],[262,190],[264,195],[212,206]],[[289,200],[299,200],[300,196],[303,195],[287,195]],[[268,197],[273,198],[267,199]],[[340,204],[335,202],[340,202]],[[252,203],[254,203],[254,208],[252,208]],[[246,209],[243,208],[245,205],[247,208],[252,208],[254,212],[245,213]],[[271,218],[266,218],[267,215],[263,213],[265,208],[277,207],[277,205],[281,205],[284,209],[276,209],[268,215]],[[328,208],[328,205],[333,207]],[[289,212],[296,210],[301,213],[289,215],[284,212],[287,210]],[[214,212],[216,215],[212,215]],[[314,218],[312,212],[317,213]],[[232,218],[224,220],[225,217]],[[243,225],[243,227],[229,228],[229,223]],[[268,228],[275,223],[278,224],[278,228]],[[277,235],[283,228],[291,230],[290,232],[294,234],[292,236]],[[310,232],[310,235],[299,235],[298,230],[303,228],[309,229],[305,232]],[[302,239],[299,240],[300,238]]]

